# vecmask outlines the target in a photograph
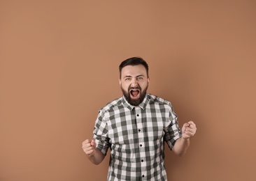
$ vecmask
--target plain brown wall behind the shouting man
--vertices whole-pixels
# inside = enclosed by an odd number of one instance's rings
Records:
[[[169,180],[255,180],[255,49],[255,1],[0,1],[0,180],[106,180],[81,143],[131,56],[197,123]]]

